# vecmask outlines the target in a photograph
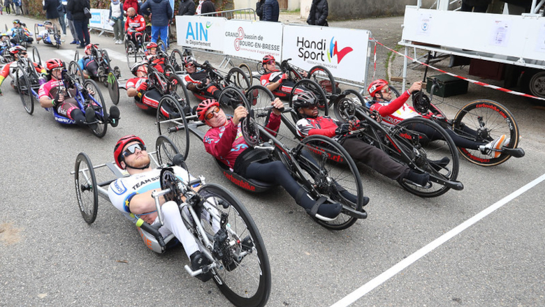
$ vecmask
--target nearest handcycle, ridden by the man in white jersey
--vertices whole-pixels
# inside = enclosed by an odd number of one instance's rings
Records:
[[[211,262],[197,271],[185,265],[187,273],[197,276],[210,271],[221,293],[235,306],[265,306],[270,296],[270,264],[261,234],[244,205],[226,188],[207,184],[202,176],[191,177],[183,158],[168,138],[159,136],[156,151],[149,155],[150,160],[161,168],[161,191],[153,194],[157,211],[160,212],[159,197],[175,200],[184,225]],[[98,181],[95,170],[102,167],[108,167],[116,178]],[[89,156],[83,152],[78,154],[71,174],[74,175],[80,212],[88,224],[96,220],[99,196],[109,201],[110,183],[127,175],[115,163],[92,165]],[[189,178],[189,181],[182,180],[179,175]],[[193,188],[197,185],[200,187],[198,190]],[[186,200],[182,201],[182,197]],[[209,216],[208,220],[199,218],[203,213]],[[219,225],[219,231],[212,230],[212,224]],[[155,253],[164,253],[176,241],[173,234],[161,236],[158,230],[161,225],[161,215],[159,223],[154,225],[143,220],[136,223],[143,241]]]

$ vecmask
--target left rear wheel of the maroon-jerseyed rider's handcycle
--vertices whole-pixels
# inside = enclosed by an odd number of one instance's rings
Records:
[[[168,137],[182,153],[184,160],[189,153],[189,129],[187,119],[180,103],[170,95],[165,95],[157,106],[157,129],[159,135]]]

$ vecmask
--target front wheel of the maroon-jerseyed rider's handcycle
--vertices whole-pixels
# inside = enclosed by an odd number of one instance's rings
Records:
[[[314,220],[330,230],[344,230],[354,225],[357,218],[347,215],[345,208],[362,211],[364,196],[360,173],[347,151],[329,137],[311,135],[298,144],[295,153],[301,169],[310,175],[310,184],[320,195],[344,208],[333,221]]]

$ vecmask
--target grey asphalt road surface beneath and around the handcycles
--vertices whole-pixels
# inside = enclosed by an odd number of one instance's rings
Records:
[[[0,24],[10,24],[10,17],[1,15]],[[34,20],[22,20],[34,27]],[[400,24],[402,17],[330,23],[369,29],[391,47],[400,40]],[[92,42],[129,75],[122,45],[96,34]],[[42,59],[70,60],[75,50],[68,44],[38,48]],[[378,52],[377,76],[383,77],[387,52]],[[198,60],[207,57],[199,54]],[[392,74],[400,61],[392,60]],[[422,75],[416,68],[409,80]],[[0,96],[0,306],[230,306],[214,283],[186,274],[181,248],[153,253],[109,202],[100,200],[93,225],[81,218],[70,174],[77,154],[87,153],[94,164],[111,161],[115,142],[128,134],[153,144],[155,115],[122,91],[120,124],[99,139],[55,122],[39,105],[27,114],[9,82]],[[273,274],[268,306],[544,306],[545,111],[473,85],[446,100],[445,111],[452,114],[477,98],[497,100],[513,112],[524,158],[496,167],[462,160],[465,189],[433,199],[411,195],[359,165],[371,199],[369,217],[340,232],[314,223],[283,190],[250,194],[236,188],[195,137],[187,163],[193,174],[240,197],[256,221]],[[517,190],[517,197],[506,198]]]

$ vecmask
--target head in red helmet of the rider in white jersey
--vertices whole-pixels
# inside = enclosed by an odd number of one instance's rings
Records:
[[[115,164],[122,170],[145,170],[150,167],[144,141],[136,135],[126,135],[114,147]]]

